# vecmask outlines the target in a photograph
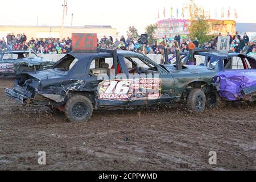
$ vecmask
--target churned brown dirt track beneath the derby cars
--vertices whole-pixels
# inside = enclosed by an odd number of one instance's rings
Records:
[[[255,103],[200,116],[183,107],[104,110],[72,123],[7,98],[12,84],[0,78],[0,170],[256,170]],[[39,151],[46,151],[46,166],[38,164]],[[209,151],[217,152],[215,166]]]

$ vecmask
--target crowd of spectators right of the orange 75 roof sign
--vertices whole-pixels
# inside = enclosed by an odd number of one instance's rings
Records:
[[[221,33],[218,36],[222,36]],[[175,53],[177,43],[179,43],[179,50],[181,52],[186,52],[188,51],[188,49],[217,49],[218,36],[212,36],[209,42],[201,44],[199,40],[197,40],[197,38],[193,40],[189,38],[181,39],[181,36],[179,34],[176,34],[175,36],[169,35],[166,38],[168,54]],[[230,51],[244,53],[248,55],[256,55],[256,41],[254,40],[254,42],[250,42],[249,37],[246,33],[244,34],[244,36],[240,36],[237,32],[236,35],[232,36],[228,32],[226,36],[230,36]],[[163,41],[143,45],[139,42],[139,39],[140,37],[138,39],[134,39],[132,36],[128,35],[127,39],[122,36],[121,39],[115,39],[115,41],[113,41],[112,36],[110,36],[109,38],[106,38],[106,36],[104,36],[104,38],[98,41],[98,46],[109,49],[122,49],[139,53],[143,52],[146,54],[161,54],[163,52]]]

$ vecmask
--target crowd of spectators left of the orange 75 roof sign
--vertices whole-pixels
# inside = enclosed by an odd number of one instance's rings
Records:
[[[8,51],[25,51],[30,47],[36,53],[68,53],[72,51],[72,40],[63,38],[63,40],[55,38],[27,40],[27,36],[23,34],[8,34],[0,40],[1,50]]]

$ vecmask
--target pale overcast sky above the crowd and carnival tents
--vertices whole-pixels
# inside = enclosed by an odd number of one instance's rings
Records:
[[[166,18],[170,18],[170,9],[173,7],[173,16],[176,18],[176,9],[189,0],[67,0],[68,15],[65,16],[65,26],[71,25],[71,14],[74,14],[73,26],[84,25],[111,25],[117,28],[119,35],[126,35],[129,26],[137,27],[139,34],[144,27],[157,22],[158,9],[160,19],[163,19],[163,7],[166,8]],[[1,25],[36,25],[38,16],[39,25],[61,26],[64,0],[1,0]],[[225,16],[230,7],[231,17],[234,18],[234,9],[238,14],[237,22],[256,23],[256,1],[253,0],[196,0],[197,4],[211,12],[214,19],[215,11],[221,16],[221,7],[225,8]],[[232,19],[231,18],[231,19]]]

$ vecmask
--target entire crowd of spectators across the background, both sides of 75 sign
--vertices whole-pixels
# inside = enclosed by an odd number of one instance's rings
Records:
[[[221,33],[218,36],[222,36]],[[218,36],[212,36],[209,42],[201,44],[197,38],[191,40],[189,38],[181,39],[179,34],[175,36],[169,35],[166,37],[166,46],[168,54],[174,54],[176,51],[176,45],[178,43],[181,52],[188,51],[188,49],[217,49]],[[227,33],[226,36],[230,36],[230,51],[237,53],[244,53],[248,55],[256,55],[256,46],[254,42],[250,42],[249,37],[245,33],[240,36],[238,32],[232,36]],[[109,49],[122,49],[125,51],[133,51],[138,53],[151,53],[162,54],[164,49],[164,42],[154,42],[152,44],[142,44],[140,37],[134,39],[133,36],[128,35],[127,39],[121,36],[121,39],[113,40],[112,36],[107,38],[104,36],[101,40],[97,40],[98,47]],[[36,53],[68,53],[72,51],[71,38],[63,38],[62,40],[56,38],[46,39],[34,39],[27,40],[27,36],[23,34],[8,34],[5,38],[0,40],[1,50],[27,50],[28,47],[33,49]]]

